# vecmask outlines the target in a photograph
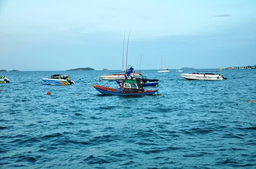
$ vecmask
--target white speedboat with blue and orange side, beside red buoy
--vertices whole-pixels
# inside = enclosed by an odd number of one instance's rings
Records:
[[[69,75],[68,76],[64,76],[64,75],[52,75],[48,78],[44,78],[42,79],[42,81],[44,83],[46,83],[47,85],[73,85],[75,84],[75,82],[73,80],[69,79]]]

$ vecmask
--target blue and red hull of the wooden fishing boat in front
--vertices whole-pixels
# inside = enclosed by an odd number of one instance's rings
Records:
[[[122,93],[117,92],[117,89],[111,88],[111,87],[103,87],[99,85],[93,85],[93,87],[98,90],[100,93],[105,95],[118,95],[118,96],[132,96],[132,95],[153,95],[157,92],[157,90],[147,90],[145,92],[138,92],[138,93]]]

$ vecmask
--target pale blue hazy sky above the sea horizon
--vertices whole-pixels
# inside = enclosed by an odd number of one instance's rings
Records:
[[[141,70],[161,56],[169,69],[256,65],[255,9],[255,0],[0,0],[0,70],[121,70],[123,47]]]

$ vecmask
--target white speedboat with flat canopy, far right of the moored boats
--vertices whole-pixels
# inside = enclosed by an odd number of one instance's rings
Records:
[[[204,73],[185,73],[180,74],[180,77],[183,77],[187,80],[223,80],[227,79],[224,76],[221,76],[221,74],[216,74],[219,70],[196,70],[198,72],[204,72]],[[209,72],[209,73],[208,73]],[[211,73],[215,72],[215,73]]]

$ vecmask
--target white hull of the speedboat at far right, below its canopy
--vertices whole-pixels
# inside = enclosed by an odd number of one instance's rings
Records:
[[[180,74],[180,77],[183,77],[187,80],[223,80],[223,77],[220,75],[212,75],[212,74]]]

